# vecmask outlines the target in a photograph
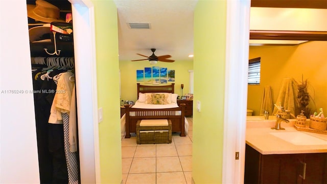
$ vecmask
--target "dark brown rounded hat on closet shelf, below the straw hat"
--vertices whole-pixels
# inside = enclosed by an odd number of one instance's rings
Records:
[[[52,31],[50,31],[50,24],[36,26],[29,29],[30,41],[33,43],[51,42],[50,34],[53,34]]]

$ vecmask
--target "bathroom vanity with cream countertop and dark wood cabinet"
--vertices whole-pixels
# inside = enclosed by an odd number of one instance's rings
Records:
[[[327,183],[327,135],[247,121],[244,183]]]

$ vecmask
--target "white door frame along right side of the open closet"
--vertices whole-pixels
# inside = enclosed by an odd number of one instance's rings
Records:
[[[81,183],[101,183],[94,5],[90,0],[68,1],[73,13]]]

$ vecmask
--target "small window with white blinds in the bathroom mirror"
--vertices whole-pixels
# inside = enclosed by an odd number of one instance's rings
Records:
[[[260,84],[260,64],[261,57],[249,60],[248,84]]]

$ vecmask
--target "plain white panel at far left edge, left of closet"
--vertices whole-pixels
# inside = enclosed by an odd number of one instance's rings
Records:
[[[26,1],[1,0],[0,22],[0,183],[39,183]]]

